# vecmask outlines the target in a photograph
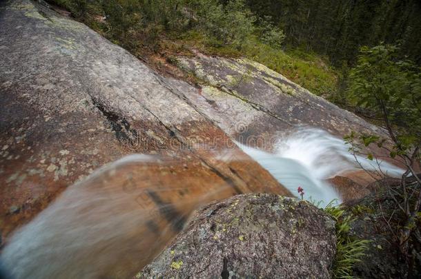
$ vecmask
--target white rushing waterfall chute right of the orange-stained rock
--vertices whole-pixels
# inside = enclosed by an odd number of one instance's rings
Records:
[[[298,196],[297,187],[304,188],[304,198],[322,201],[326,205],[332,200],[341,202],[340,195],[327,181],[336,175],[359,169],[349,146],[342,138],[311,127],[297,128],[291,134],[277,138],[273,153],[237,145],[257,163],[268,170],[282,185]],[[369,171],[379,168],[389,176],[400,176],[403,170],[384,161],[371,161],[357,156],[358,161]]]

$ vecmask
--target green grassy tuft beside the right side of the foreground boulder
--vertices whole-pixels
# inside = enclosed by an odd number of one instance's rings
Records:
[[[326,205],[324,211],[336,221],[336,255],[332,267],[333,278],[353,278],[352,269],[366,251],[369,240],[360,240],[349,234],[353,216],[345,214],[341,206]]]

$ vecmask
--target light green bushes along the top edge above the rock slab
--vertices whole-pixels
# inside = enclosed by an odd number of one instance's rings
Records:
[[[202,32],[213,46],[241,48],[255,31],[256,17],[244,0],[51,0],[90,24],[104,17],[104,33],[123,45],[155,45],[162,34]],[[280,30],[277,30],[280,32]],[[275,36],[276,34],[274,34]]]

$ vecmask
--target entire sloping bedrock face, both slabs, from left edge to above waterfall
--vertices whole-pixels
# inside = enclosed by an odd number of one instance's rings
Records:
[[[205,81],[197,88],[36,2],[3,1],[0,25],[3,236],[126,154],[177,158],[236,193],[291,195],[231,137],[271,150],[295,125],[382,133],[247,59],[180,57],[179,68]]]

